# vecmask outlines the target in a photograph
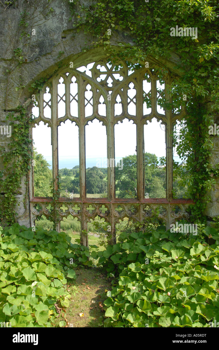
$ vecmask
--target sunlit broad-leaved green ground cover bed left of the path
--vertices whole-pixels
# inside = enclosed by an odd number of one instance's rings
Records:
[[[69,306],[67,280],[76,278],[68,252],[71,238],[19,224],[0,232],[0,322],[51,327],[56,307]]]

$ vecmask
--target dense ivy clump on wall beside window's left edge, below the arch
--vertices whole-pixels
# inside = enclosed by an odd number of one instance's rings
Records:
[[[3,171],[0,172],[0,177],[2,178],[3,198],[0,205],[0,220],[4,225],[10,225],[16,222],[16,196],[19,194],[22,176],[27,179],[30,169],[29,124],[31,117],[26,108],[19,106],[16,113],[8,113],[6,120],[12,127],[12,137],[7,146],[8,150],[3,148],[1,154]],[[26,180],[27,184],[28,179]]]

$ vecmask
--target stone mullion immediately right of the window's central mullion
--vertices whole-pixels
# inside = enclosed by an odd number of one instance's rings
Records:
[[[140,75],[136,86],[136,132],[137,132],[137,197],[139,201],[144,198],[144,125],[143,125],[143,84]]]

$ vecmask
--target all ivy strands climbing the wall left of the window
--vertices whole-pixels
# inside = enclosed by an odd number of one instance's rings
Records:
[[[52,0],[43,8],[45,17],[52,12]],[[1,3],[2,5],[2,3]],[[16,31],[14,40],[14,49],[12,58],[6,69],[7,85],[6,85],[6,108],[8,99],[8,86],[12,73],[17,67],[21,68],[19,81],[17,81],[16,91],[24,90],[23,82],[23,68],[28,63],[27,52],[30,45],[31,28],[37,26],[38,23],[34,21],[34,11],[38,10],[38,2],[27,2],[23,6],[23,11],[20,13],[20,21]],[[28,6],[32,6],[31,13],[28,12]],[[39,14],[39,13],[38,13]],[[42,13],[43,14],[43,13]],[[58,69],[58,68],[57,68]],[[56,72],[56,70],[55,70]],[[37,93],[42,89],[48,77],[35,80],[29,87],[29,91]],[[31,96],[31,95],[30,95]],[[28,171],[30,169],[31,159],[31,140],[29,135],[30,123],[32,117],[29,106],[19,105],[17,110],[9,112],[6,116],[11,126],[12,135],[7,149],[1,150],[1,159],[3,170],[0,172],[1,180],[1,202],[0,202],[0,224],[6,226],[16,222],[17,219],[17,195],[20,193],[20,186],[22,177],[24,177],[24,185],[26,186],[26,194],[24,195],[23,204],[25,207],[26,198],[28,195]]]

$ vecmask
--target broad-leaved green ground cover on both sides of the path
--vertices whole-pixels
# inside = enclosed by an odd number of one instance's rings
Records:
[[[103,250],[96,244],[80,245],[79,239],[72,244],[71,239],[40,226],[35,232],[18,224],[1,228],[0,322],[70,327],[65,318],[56,318],[62,309],[68,320],[83,327],[77,305],[89,297],[92,286],[86,287],[86,279],[79,282],[82,301],[74,296],[69,307],[72,290],[78,288],[78,269],[82,280],[89,269],[100,270],[107,280],[103,283],[112,285],[101,297],[105,320],[100,317],[91,327],[211,327],[219,322],[218,229],[198,224],[193,235],[165,231],[158,223],[137,223],[135,231],[121,232],[118,243],[101,246]],[[93,312],[89,300],[83,302]]]

